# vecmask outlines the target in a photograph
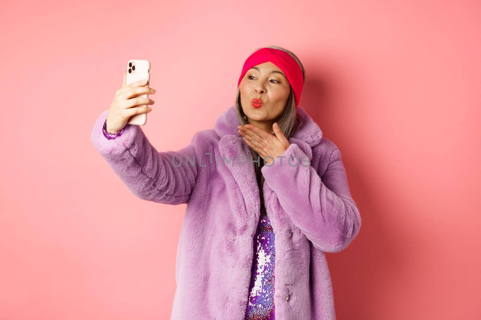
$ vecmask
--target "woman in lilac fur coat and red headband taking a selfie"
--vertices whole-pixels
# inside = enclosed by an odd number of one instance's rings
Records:
[[[235,105],[177,152],[126,125],[150,112],[130,99],[147,83],[124,75],[97,119],[92,141],[133,194],[187,203],[171,319],[335,319],[324,252],[346,248],[361,218],[339,149],[299,107],[304,79],[290,51],[257,49]]]

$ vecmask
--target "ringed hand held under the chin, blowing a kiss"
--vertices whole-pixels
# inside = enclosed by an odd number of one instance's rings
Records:
[[[275,136],[250,123],[239,126],[237,129],[244,141],[266,161],[266,164],[271,164],[273,159],[283,154],[291,145],[277,122],[272,125]],[[266,159],[267,156],[273,159]]]

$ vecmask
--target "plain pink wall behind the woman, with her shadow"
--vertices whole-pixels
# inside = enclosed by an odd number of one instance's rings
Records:
[[[93,123],[149,59],[142,130],[181,149],[268,45],[304,63],[361,213],[327,254],[338,319],[480,319],[481,4],[388,2],[2,1],[0,319],[170,317],[185,205],[131,194]]]

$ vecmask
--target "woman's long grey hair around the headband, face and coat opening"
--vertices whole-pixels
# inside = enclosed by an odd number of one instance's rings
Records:
[[[261,49],[257,48],[253,52]],[[268,46],[267,48],[272,48],[272,49],[279,49],[282,51],[287,52],[291,57],[296,60],[296,62],[299,64],[299,67],[301,67],[302,74],[304,77],[304,82],[305,82],[305,71],[304,71],[304,66],[301,63],[301,61],[297,58],[295,54],[293,54],[291,51],[284,49],[282,47],[278,46]],[[242,111],[242,105],[241,105],[241,90],[237,88],[237,94],[236,98],[234,100],[235,102],[235,109],[237,112],[237,118],[239,119],[239,123],[241,126],[246,125],[248,122],[248,119],[244,112]],[[244,119],[246,117],[246,119]],[[286,107],[284,108],[284,111],[282,114],[279,116],[279,119],[277,120],[277,124],[279,125],[280,130],[282,133],[286,136],[287,139],[289,139],[292,134],[294,134],[295,130],[299,128],[302,124],[302,119],[299,116],[299,114],[296,112],[296,103],[295,103],[295,98],[294,98],[294,91],[292,91],[292,86],[291,86],[291,93],[289,94],[289,98],[287,99],[287,104]],[[253,157],[253,160],[260,160],[260,164],[257,165],[255,162],[254,164],[254,169],[255,169],[255,176],[257,178],[257,184],[259,186],[259,191],[260,191],[260,196],[261,196],[261,210],[265,210],[264,208],[264,197],[263,197],[263,192],[262,188],[264,186],[264,176],[262,175],[261,168],[264,166],[264,161],[260,155],[254,151],[253,148],[249,146],[249,149],[251,150],[251,154]]]

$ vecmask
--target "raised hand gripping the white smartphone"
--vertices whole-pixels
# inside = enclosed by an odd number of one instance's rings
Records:
[[[149,98],[134,97],[136,95],[153,95],[155,90],[149,88],[147,80],[140,80],[126,85],[127,71],[124,71],[124,81],[122,88],[115,92],[114,101],[107,114],[107,132],[119,133],[133,115],[139,113],[149,113],[151,107],[135,107],[139,105],[153,105],[154,101]]]

